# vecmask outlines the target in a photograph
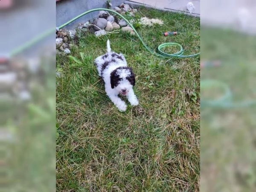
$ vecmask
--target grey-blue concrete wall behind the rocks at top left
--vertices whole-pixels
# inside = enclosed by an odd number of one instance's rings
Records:
[[[73,19],[74,17],[86,12],[90,9],[107,8],[107,0],[61,0],[56,2],[56,26]],[[124,0],[111,0],[112,9],[115,6],[123,3]],[[98,15],[99,12],[91,12],[83,17],[80,17],[73,23],[70,23],[65,28],[73,29],[78,26],[78,23],[86,22]]]

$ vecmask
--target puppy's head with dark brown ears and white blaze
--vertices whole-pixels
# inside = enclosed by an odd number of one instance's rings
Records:
[[[110,75],[111,88],[127,95],[135,85],[135,75],[130,67],[118,67]]]

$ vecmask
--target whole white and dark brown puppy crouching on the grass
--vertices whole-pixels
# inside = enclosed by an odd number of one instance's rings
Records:
[[[94,61],[99,76],[105,82],[105,91],[111,101],[120,111],[125,111],[127,105],[118,97],[119,94],[127,96],[131,105],[138,105],[138,99],[134,94],[135,76],[122,53],[111,52],[109,40],[107,52],[97,57]]]

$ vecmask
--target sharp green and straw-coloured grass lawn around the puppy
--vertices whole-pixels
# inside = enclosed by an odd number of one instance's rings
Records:
[[[199,18],[141,12],[164,22],[138,29],[149,47],[174,41],[185,55],[199,52]],[[180,34],[164,37],[164,31]],[[106,96],[93,64],[105,53],[107,39],[136,75],[134,92],[140,105],[128,105],[125,112]],[[62,70],[56,80],[57,191],[199,191],[200,58],[159,58],[137,37],[122,32],[99,38],[80,35],[77,44],[72,56],[78,62],[56,56],[57,69]]]

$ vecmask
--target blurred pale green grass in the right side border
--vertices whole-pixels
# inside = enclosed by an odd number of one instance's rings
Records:
[[[233,103],[255,100],[255,44],[255,36],[202,28],[201,60],[219,60],[221,65],[201,70],[201,81],[217,79],[227,84]],[[201,90],[201,100],[206,91]],[[255,191],[255,114],[256,105],[201,108],[201,191]]]

